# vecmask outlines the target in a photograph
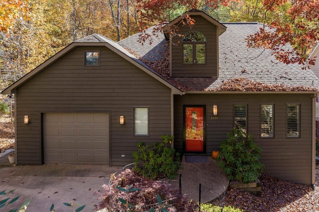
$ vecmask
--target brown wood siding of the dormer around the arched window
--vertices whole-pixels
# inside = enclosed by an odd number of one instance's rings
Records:
[[[178,33],[185,34],[190,30],[202,32],[207,40],[206,64],[183,65],[182,37],[174,36],[171,46],[172,77],[216,77],[217,76],[217,33],[216,26],[201,16],[192,16],[195,19],[194,26],[180,26]]]

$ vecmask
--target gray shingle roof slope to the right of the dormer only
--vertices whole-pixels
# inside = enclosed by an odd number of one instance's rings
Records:
[[[267,84],[319,87],[319,79],[303,65],[285,64],[268,49],[248,48],[245,38],[263,27],[260,23],[224,23],[219,36],[219,78],[209,86],[216,88],[229,78],[245,77]],[[286,48],[291,49],[290,46]]]

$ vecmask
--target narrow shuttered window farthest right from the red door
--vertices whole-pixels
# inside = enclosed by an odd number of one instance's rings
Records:
[[[300,104],[287,104],[287,137],[300,136]]]

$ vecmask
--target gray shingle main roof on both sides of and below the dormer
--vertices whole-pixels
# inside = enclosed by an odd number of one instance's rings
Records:
[[[219,36],[219,77],[216,78],[173,78],[181,85],[198,91],[214,89],[231,78],[244,77],[265,84],[285,84],[319,88],[319,79],[303,65],[285,64],[271,55],[268,49],[248,48],[245,38],[263,27],[256,22],[225,22],[227,30]],[[142,59],[154,61],[162,57],[167,41],[162,33],[153,38],[152,45],[137,42],[138,34],[118,42],[137,52]],[[290,48],[291,46],[287,46]]]

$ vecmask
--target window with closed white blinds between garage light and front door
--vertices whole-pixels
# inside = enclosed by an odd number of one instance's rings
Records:
[[[149,134],[149,108],[135,107],[134,108],[134,134],[148,135]]]

